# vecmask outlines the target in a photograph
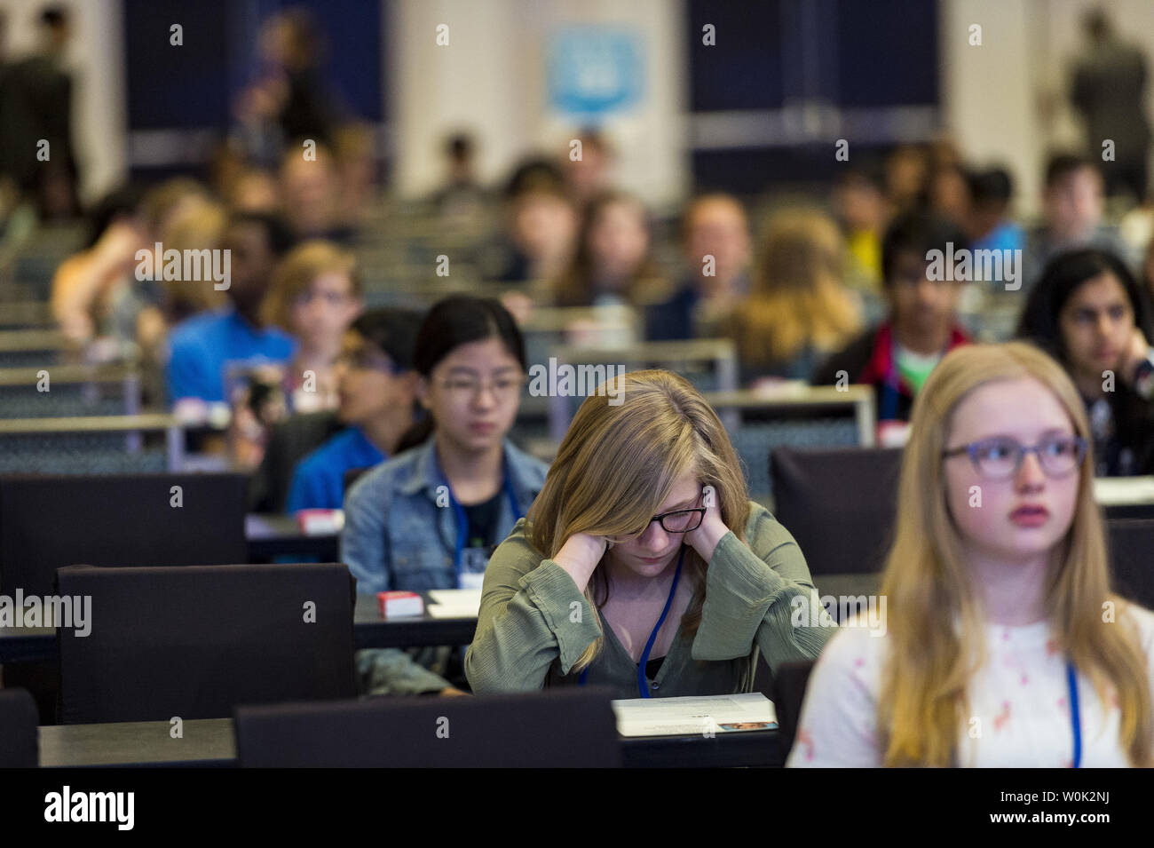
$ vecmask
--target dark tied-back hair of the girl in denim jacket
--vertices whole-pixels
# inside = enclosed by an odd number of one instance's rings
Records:
[[[413,369],[428,378],[433,369],[456,348],[490,338],[499,339],[505,346],[512,358],[520,363],[522,370],[529,370],[525,339],[517,328],[517,322],[509,310],[501,306],[501,301],[464,294],[445,298],[429,309],[421,329],[417,332]],[[436,421],[433,420],[433,415],[426,413],[421,421],[409,428],[400,437],[394,456],[424,444],[435,428]]]

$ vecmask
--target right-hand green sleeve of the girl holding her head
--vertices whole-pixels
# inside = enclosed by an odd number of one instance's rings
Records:
[[[805,557],[789,532],[764,508],[752,519],[748,545],[730,532],[713,551],[694,659],[745,656],[755,643],[771,670],[816,659],[837,625],[816,602]]]

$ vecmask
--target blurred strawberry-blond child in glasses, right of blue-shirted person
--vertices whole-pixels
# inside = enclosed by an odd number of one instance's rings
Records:
[[[267,327],[297,339],[285,390],[294,412],[337,406],[336,363],[345,330],[365,307],[353,255],[328,241],[290,250],[262,303]]]

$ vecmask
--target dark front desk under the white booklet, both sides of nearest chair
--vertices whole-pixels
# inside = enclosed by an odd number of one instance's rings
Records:
[[[167,721],[108,725],[57,725],[40,728],[40,765],[84,766],[234,766],[232,719],[183,723],[172,738]],[[775,730],[720,733],[714,738],[645,736],[621,740],[627,767],[780,766]]]

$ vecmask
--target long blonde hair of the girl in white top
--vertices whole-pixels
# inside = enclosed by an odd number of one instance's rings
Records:
[[[1073,383],[1057,362],[1021,342],[957,348],[938,363],[914,402],[898,526],[882,585],[891,610],[891,653],[878,700],[878,736],[887,766],[957,764],[966,688],[986,659],[984,616],[946,505],[942,451],[954,411],[971,392],[1022,377],[1047,387],[1074,431],[1091,443]],[[1127,624],[1102,626],[1107,601],[1118,611],[1127,602],[1110,591],[1092,468],[1086,457],[1073,520],[1055,551],[1046,617],[1058,650],[1091,677],[1103,703],[1107,688],[1115,688],[1122,708],[1119,742],[1133,765],[1148,766],[1152,712],[1144,652]],[[951,626],[956,621],[960,629]]]

